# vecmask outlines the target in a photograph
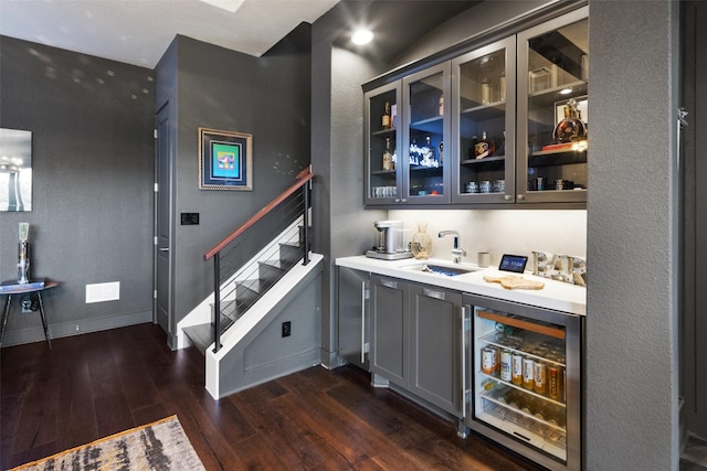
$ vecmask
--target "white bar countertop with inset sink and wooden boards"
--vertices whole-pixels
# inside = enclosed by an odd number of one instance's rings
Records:
[[[420,264],[457,267],[476,271],[450,277],[411,268],[411,266]],[[400,278],[408,281],[454,289],[472,295],[487,296],[505,301],[514,301],[579,315],[587,314],[587,288],[537,277],[530,271],[523,274],[523,277],[526,279],[544,281],[545,287],[542,289],[505,289],[497,282],[485,281],[484,275],[511,275],[508,271],[499,271],[496,268],[479,268],[474,264],[452,264],[451,260],[443,259],[430,258],[426,260],[416,260],[414,258],[405,258],[402,260],[380,260],[360,255],[355,257],[337,258],[336,265],[339,267],[368,271],[370,274]]]

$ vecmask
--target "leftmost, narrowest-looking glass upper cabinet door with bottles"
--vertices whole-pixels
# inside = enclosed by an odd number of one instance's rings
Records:
[[[365,94],[366,204],[393,204],[402,199],[400,84],[392,83]]]

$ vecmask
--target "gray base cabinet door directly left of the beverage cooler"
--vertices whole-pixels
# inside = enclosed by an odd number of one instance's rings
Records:
[[[462,295],[411,286],[410,390],[450,414],[463,409]]]

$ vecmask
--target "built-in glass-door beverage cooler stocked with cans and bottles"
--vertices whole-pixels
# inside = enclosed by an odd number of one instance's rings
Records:
[[[581,469],[581,315],[466,296],[465,424],[552,470]]]

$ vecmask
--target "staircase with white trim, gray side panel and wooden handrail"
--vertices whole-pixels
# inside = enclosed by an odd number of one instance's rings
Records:
[[[214,398],[320,364],[323,257],[310,253],[312,179],[300,172],[204,255],[213,261],[213,293],[177,334],[179,347],[191,343],[204,354]]]

